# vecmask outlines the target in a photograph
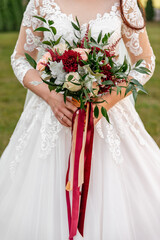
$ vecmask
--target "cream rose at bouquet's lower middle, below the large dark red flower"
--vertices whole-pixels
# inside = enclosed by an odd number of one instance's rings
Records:
[[[68,80],[69,76],[73,76],[73,78],[71,80]],[[80,84],[79,79],[80,75],[77,72],[68,73],[65,77],[65,83],[63,84],[63,88],[67,88],[69,91],[72,92],[79,91],[82,88],[82,86],[74,84],[74,83]]]

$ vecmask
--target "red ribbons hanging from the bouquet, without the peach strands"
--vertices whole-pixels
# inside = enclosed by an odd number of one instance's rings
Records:
[[[93,106],[92,103],[89,104],[89,118],[87,126],[87,136],[85,144],[85,156],[84,156],[84,183],[82,185],[82,192],[80,192],[80,187],[78,187],[78,172],[79,172],[79,159],[82,149],[83,142],[83,130],[85,124],[86,112],[84,109],[78,109],[72,119],[72,140],[73,140],[73,126],[75,122],[75,116],[78,113],[78,125],[77,125],[77,135],[76,135],[76,145],[75,145],[75,158],[74,158],[74,175],[73,175],[73,190],[72,190],[72,212],[69,191],[66,190],[66,202],[67,202],[67,212],[68,212],[68,224],[69,224],[69,239],[73,240],[73,237],[77,233],[77,228],[80,234],[83,236],[84,231],[84,220],[89,188],[89,179],[91,171],[91,159],[92,159],[92,147],[93,147],[93,135],[94,135],[94,124],[93,124]],[[71,153],[70,153],[71,156]],[[68,170],[66,174],[66,184],[69,179],[70,170],[70,156],[68,161]],[[80,201],[81,196],[81,201]]]

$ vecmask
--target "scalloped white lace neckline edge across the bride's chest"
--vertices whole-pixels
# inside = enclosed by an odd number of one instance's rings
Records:
[[[65,12],[63,12],[61,10],[61,7],[59,6],[58,3],[56,3],[54,1],[54,6],[56,8],[56,11],[58,11],[59,14],[61,14],[62,16],[66,17],[67,19],[71,20],[72,22],[76,23],[76,16],[73,16],[72,13],[67,14]],[[117,8],[119,7],[119,2],[115,2],[112,6],[109,12],[104,12],[104,13],[97,13],[95,18],[90,19],[88,22],[82,23],[80,24],[81,28],[86,27],[87,25],[90,25],[91,23],[97,21],[97,19],[103,19],[106,16],[110,16],[110,15],[115,15],[115,12],[117,11]],[[77,16],[78,17],[78,16]]]

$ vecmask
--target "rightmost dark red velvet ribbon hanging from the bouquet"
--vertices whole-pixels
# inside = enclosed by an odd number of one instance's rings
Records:
[[[78,222],[78,230],[83,236],[84,232],[84,220],[91,172],[91,160],[92,160],[92,148],[93,148],[93,136],[94,136],[94,123],[93,123],[93,106],[89,103],[89,118],[88,118],[88,128],[87,137],[85,145],[85,166],[84,166],[84,184],[82,186],[81,193],[81,203],[80,203],[80,215]]]

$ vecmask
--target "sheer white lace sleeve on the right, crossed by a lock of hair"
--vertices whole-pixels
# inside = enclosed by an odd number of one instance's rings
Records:
[[[138,7],[137,0],[124,0],[123,9],[126,19],[132,26],[143,26],[144,19]],[[132,64],[129,75],[132,78],[136,78],[144,85],[153,75],[155,68],[155,56],[150,46],[146,28],[142,30],[133,30],[123,23],[122,37]],[[139,59],[144,59],[141,66],[147,67],[151,71],[150,75],[141,74],[133,70],[134,64]]]

